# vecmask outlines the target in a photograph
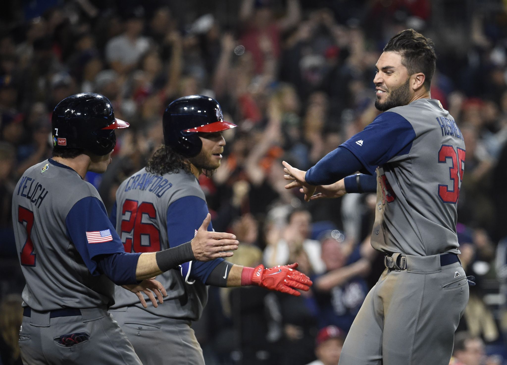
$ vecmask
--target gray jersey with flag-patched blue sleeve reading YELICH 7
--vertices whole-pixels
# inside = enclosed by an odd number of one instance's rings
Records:
[[[114,303],[114,284],[93,258],[123,252],[97,190],[52,159],[25,171],[13,194],[12,216],[23,306],[48,312]],[[134,295],[135,297],[135,295]]]

